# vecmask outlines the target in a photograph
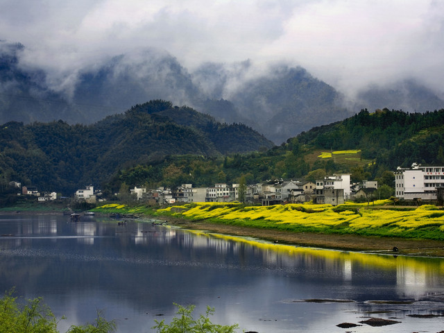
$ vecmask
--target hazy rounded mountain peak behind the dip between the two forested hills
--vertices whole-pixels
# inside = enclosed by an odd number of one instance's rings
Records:
[[[245,123],[276,144],[320,125],[320,119],[330,123],[350,116],[343,96],[302,67],[271,67],[266,75],[246,80],[229,100]],[[205,107],[214,117],[223,117],[213,105]]]

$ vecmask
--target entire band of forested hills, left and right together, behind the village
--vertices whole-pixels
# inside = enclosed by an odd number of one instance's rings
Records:
[[[398,166],[444,164],[443,133],[444,110],[361,110],[273,146],[244,125],[151,101],[91,126],[4,124],[0,177],[3,185],[17,180],[63,194],[88,184],[113,194],[122,185],[210,186],[241,177],[248,183],[313,181],[338,172],[351,173],[354,182],[376,179],[393,187],[391,171]]]

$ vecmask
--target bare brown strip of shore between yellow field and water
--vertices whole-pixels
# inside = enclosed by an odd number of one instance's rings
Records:
[[[158,216],[151,216],[158,219]],[[429,239],[406,239],[397,237],[373,237],[357,234],[322,234],[314,232],[287,232],[283,230],[241,227],[205,221],[189,221],[173,216],[162,216],[171,225],[182,229],[204,230],[218,234],[254,237],[292,246],[352,250],[361,253],[408,255],[414,257],[444,257],[444,241]],[[394,251],[393,248],[398,248]]]

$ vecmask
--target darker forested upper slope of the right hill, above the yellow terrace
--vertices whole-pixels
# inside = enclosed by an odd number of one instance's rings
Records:
[[[361,110],[355,116],[298,135],[300,144],[326,150],[361,149],[376,167],[444,164],[444,110],[408,113]]]

